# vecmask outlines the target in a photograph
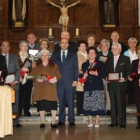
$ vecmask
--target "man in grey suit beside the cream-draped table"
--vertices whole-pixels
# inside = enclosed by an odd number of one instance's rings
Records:
[[[10,83],[11,87],[15,89],[15,104],[13,104],[13,112],[19,113],[19,79],[20,79],[20,67],[18,58],[16,55],[9,53],[10,43],[3,41],[1,46],[2,55],[5,56],[8,73],[15,73],[15,80]],[[19,118],[13,121],[14,127],[22,127],[19,124]]]

